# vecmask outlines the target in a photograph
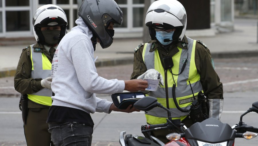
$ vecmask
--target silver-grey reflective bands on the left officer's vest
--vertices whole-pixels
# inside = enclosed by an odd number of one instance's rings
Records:
[[[34,52],[34,49],[32,48],[34,45],[30,46],[33,68],[34,68],[34,70],[31,70],[31,77],[32,78],[42,78],[42,79],[47,78],[47,77],[51,76],[51,70],[43,70],[43,68],[42,68],[42,52]],[[52,90],[50,90],[48,88],[42,88],[38,92],[32,93],[32,95],[51,97]]]

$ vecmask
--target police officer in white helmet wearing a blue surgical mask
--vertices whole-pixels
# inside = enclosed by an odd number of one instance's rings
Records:
[[[151,41],[134,49],[131,79],[160,79],[160,88],[147,94],[156,97],[171,111],[172,119],[180,119],[187,127],[203,120],[191,115],[191,103],[199,92],[204,93],[210,105],[207,115],[200,117],[220,120],[224,100],[222,83],[207,46],[185,36],[187,15],[183,5],[177,0],[155,1],[148,8],[145,24]],[[145,117],[148,124],[162,124],[166,123],[168,113],[154,108]],[[169,133],[157,130],[151,135],[166,143],[165,136]]]

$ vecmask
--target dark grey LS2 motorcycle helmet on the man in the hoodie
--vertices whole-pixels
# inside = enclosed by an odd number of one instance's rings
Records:
[[[84,0],[78,15],[92,31],[93,36],[99,39],[103,49],[113,42],[112,36],[107,31],[110,22],[118,25],[123,22],[122,10],[114,0]]]

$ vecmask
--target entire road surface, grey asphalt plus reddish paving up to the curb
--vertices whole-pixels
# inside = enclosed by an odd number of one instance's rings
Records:
[[[224,108],[222,122],[230,126],[239,122],[241,113],[246,111],[258,98],[258,58],[234,58],[234,59],[215,59],[215,70],[220,76],[224,86]],[[100,76],[112,79],[128,80],[130,78],[132,64],[124,66],[99,67],[97,72]],[[2,87],[13,86],[13,77],[0,78]],[[4,89],[0,88],[2,92]],[[5,89],[6,91],[7,89]],[[8,92],[15,92],[8,89]],[[111,101],[110,95],[103,96]],[[0,98],[0,145],[25,146],[21,113],[18,109],[19,98]],[[117,146],[120,131],[142,135],[140,126],[145,124],[144,113],[117,113],[110,115],[104,113],[92,114],[95,123],[93,133],[93,144],[96,146],[110,145]],[[243,118],[243,121],[254,127],[258,127],[258,115],[250,113]],[[236,139],[235,146],[249,145],[255,146],[258,138],[250,141]]]

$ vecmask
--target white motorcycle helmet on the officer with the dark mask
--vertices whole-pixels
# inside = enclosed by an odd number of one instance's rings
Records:
[[[43,5],[36,10],[33,16],[32,26],[35,39],[40,44],[46,44],[44,36],[41,32],[41,27],[60,26],[61,31],[58,38],[59,43],[64,35],[67,33],[67,17],[64,13],[64,10],[57,5]]]

